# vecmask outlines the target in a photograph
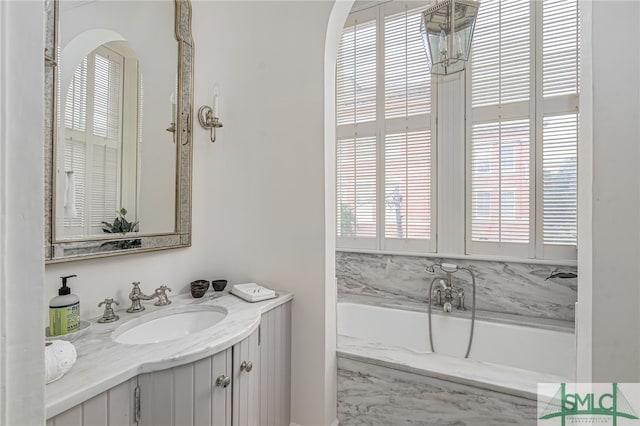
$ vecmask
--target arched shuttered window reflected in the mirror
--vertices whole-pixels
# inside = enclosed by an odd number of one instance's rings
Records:
[[[65,102],[65,236],[102,234],[119,209],[123,57],[100,47],[76,68]]]

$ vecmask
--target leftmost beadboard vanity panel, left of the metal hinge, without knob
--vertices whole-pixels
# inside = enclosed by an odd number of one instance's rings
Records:
[[[47,420],[47,426],[134,426],[137,378],[127,380]]]

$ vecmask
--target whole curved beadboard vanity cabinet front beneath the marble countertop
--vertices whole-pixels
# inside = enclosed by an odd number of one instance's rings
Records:
[[[288,302],[262,314],[258,329],[233,347],[140,374],[49,419],[47,426],[285,426],[290,400]]]

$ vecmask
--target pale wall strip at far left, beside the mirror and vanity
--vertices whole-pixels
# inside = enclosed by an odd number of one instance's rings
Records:
[[[8,426],[44,422],[42,10],[0,2],[0,424]]]

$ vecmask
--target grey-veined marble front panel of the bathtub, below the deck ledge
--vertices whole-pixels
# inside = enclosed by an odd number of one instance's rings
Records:
[[[536,401],[338,358],[340,425],[535,425]]]

